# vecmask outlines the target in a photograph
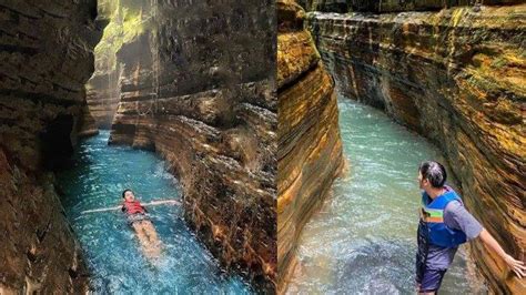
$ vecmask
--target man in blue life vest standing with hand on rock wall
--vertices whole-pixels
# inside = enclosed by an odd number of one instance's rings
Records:
[[[435,161],[418,169],[422,194],[418,224],[418,252],[416,254],[416,284],[418,294],[435,294],[458,245],[479,237],[497,253],[518,277],[526,275],[522,261],[508,255],[481,223],[466,211],[461,197],[445,185],[446,171]]]

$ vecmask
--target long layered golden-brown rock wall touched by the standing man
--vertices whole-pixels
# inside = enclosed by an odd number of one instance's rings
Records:
[[[468,208],[522,260],[525,13],[526,6],[516,4],[308,17],[338,91],[439,146]],[[494,292],[526,293],[525,281],[497,255],[479,242],[471,248]]]

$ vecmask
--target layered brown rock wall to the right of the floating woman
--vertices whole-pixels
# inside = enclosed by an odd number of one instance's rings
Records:
[[[273,1],[158,1],[118,52],[110,142],[155,150],[182,184],[188,222],[257,288],[276,282]]]

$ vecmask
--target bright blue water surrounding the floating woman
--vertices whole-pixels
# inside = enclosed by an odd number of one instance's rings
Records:
[[[130,187],[143,203],[180,199],[176,180],[152,152],[109,146],[108,131],[80,143],[75,166],[59,173],[62,204],[92,273],[95,294],[250,294],[239,275],[227,274],[196,240],[174,205],[148,207],[163,244],[156,263],[141,252],[123,213],[81,214],[119,205]]]

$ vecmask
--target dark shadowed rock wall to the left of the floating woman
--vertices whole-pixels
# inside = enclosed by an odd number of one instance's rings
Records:
[[[95,17],[95,1],[0,4],[0,294],[87,291],[50,171],[95,132],[84,93]]]

